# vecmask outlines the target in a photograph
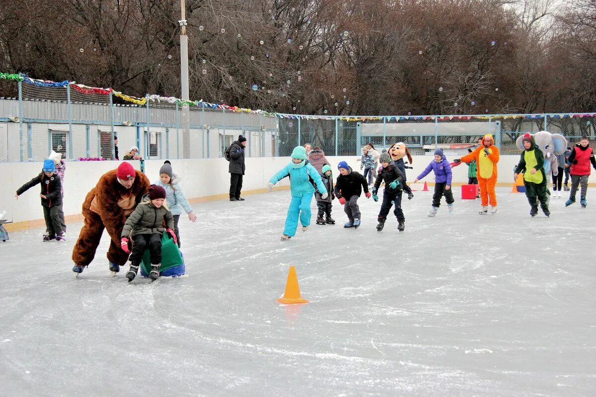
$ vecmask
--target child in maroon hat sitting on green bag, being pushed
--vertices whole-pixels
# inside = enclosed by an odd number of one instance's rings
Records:
[[[167,229],[162,226],[164,220]],[[131,254],[128,243],[132,240],[132,254],[129,258],[131,268],[126,273],[129,282],[136,277],[145,248],[149,249],[151,258],[149,278],[155,280],[159,277],[159,267],[162,263],[162,234],[167,231],[176,242],[176,233],[173,229],[174,218],[167,208],[166,190],[161,186],[149,186],[149,193],[143,196],[141,204],[136,206],[126,220],[120,237],[120,246],[128,254]]]

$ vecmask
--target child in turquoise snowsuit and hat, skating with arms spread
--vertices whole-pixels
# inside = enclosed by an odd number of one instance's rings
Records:
[[[321,193],[321,198],[325,199],[328,195],[318,171],[306,161],[306,149],[303,146],[296,146],[291,157],[290,164],[272,176],[268,183],[268,189],[271,191],[273,185],[279,180],[286,176],[290,177],[292,201],[290,202],[290,208],[288,208],[288,215],[285,218],[284,234],[281,235],[282,240],[290,239],[290,237],[296,235],[298,218],[300,218],[303,232],[306,232],[311,224],[311,201],[315,192],[313,183]]]

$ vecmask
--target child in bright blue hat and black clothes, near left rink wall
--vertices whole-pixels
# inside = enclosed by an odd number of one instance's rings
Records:
[[[41,183],[41,205],[44,208],[45,227],[48,230],[48,235],[44,236],[44,241],[50,240],[64,240],[62,236],[62,223],[58,211],[62,204],[61,183],[58,174],[54,175],[56,166],[54,160],[44,161],[44,170],[41,174],[19,187],[17,190],[18,196],[29,190],[31,187]]]

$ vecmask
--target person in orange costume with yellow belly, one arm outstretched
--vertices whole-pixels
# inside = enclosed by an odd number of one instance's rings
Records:
[[[489,139],[490,143],[487,146],[485,140]],[[488,149],[488,154],[485,153]],[[460,158],[462,162],[470,162],[476,160],[476,177],[480,187],[480,199],[482,199],[482,207],[487,207],[489,199],[493,212],[496,211],[496,163],[499,162],[499,149],[495,146],[495,140],[491,134],[486,134],[482,137],[482,146],[479,146],[468,155]],[[482,211],[481,211],[482,212]]]

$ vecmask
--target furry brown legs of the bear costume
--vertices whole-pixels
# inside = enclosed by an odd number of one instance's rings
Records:
[[[73,248],[72,259],[76,265],[87,266],[95,257],[98,245],[100,245],[101,235],[104,232],[104,221],[97,212],[91,211],[91,201],[95,197],[95,189],[87,193],[85,202],[83,202],[82,214],[85,217],[83,227],[80,230],[79,239]],[[120,248],[120,233],[124,227],[126,218],[122,216],[119,224],[109,225],[108,234],[110,235],[110,248],[108,248],[108,261],[117,265],[124,265],[128,260],[128,254]]]

